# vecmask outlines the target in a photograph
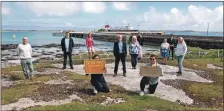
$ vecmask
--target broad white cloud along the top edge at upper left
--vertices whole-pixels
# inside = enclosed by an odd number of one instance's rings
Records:
[[[80,9],[80,3],[72,2],[19,2],[17,4],[28,7],[37,16],[67,16]]]

